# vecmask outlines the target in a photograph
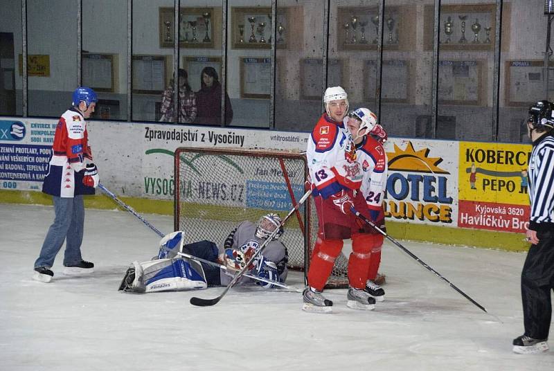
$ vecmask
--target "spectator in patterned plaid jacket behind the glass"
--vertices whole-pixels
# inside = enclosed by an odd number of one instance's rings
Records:
[[[196,96],[188,84],[188,73],[179,69],[179,123],[193,123],[197,114]],[[175,108],[173,107],[175,82],[171,79],[168,89],[161,96],[160,121],[175,123]]]

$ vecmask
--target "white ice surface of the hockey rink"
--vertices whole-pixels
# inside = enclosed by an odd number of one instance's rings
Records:
[[[172,217],[143,216],[172,232]],[[120,210],[87,209],[82,253],[94,273],[62,275],[60,252],[53,281],[33,281],[52,219],[51,207],[0,204],[0,370],[554,370],[554,349],[512,353],[523,334],[524,253],[401,241],[490,314],[387,241],[386,299],[375,311],[346,307],[345,289],[325,291],[334,314],[305,313],[301,293],[279,289],[233,288],[193,307],[192,296],[222,288],[117,291],[127,266],[157,255],[159,242]],[[287,284],[301,289],[303,274]]]

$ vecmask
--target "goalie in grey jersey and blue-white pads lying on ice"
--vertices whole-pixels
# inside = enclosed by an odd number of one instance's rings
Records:
[[[258,225],[243,221],[226,238],[224,251],[206,240],[184,244],[183,232],[170,233],[161,239],[156,257],[148,262],[131,264],[119,290],[153,292],[227,285],[279,226],[277,214],[264,215]],[[276,237],[267,243],[263,255],[258,255],[238,284],[271,288],[275,287],[271,282],[285,282],[288,253],[285,245],[278,241],[282,234],[283,228],[280,227]]]

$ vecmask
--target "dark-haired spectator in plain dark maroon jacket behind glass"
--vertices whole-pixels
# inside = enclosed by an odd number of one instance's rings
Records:
[[[221,124],[221,84],[220,78],[213,67],[205,67],[200,73],[201,88],[196,93],[198,115],[196,123],[206,125]],[[231,100],[225,93],[225,123],[229,125],[233,120]]]

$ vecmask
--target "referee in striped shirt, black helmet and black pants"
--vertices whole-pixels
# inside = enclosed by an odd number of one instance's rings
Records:
[[[533,141],[529,160],[531,212],[527,241],[531,243],[521,271],[525,333],[513,351],[533,354],[548,350],[554,289],[554,104],[541,100],[529,109],[527,132]]]

